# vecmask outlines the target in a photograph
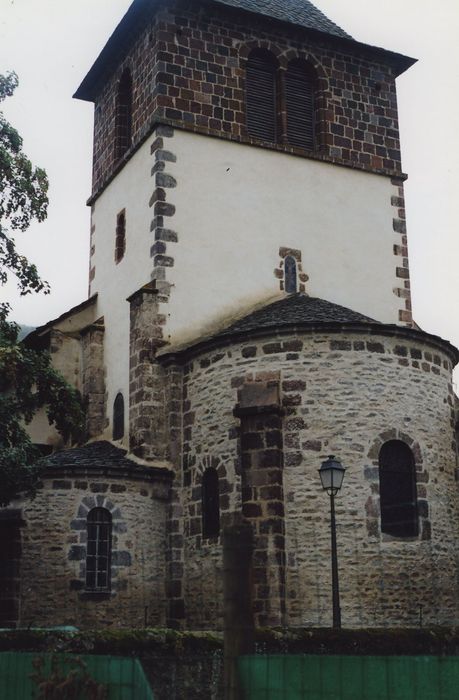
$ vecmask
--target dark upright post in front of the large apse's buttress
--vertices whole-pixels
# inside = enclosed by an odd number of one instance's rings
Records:
[[[241,700],[237,659],[253,652],[253,533],[249,523],[223,530],[224,686],[225,700]]]

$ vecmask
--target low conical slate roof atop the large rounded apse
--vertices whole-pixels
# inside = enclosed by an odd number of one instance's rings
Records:
[[[235,333],[249,333],[267,328],[282,328],[318,323],[379,323],[373,318],[352,311],[345,306],[325,299],[308,297],[301,292],[275,301],[253,311],[218,333],[215,338],[225,338]]]

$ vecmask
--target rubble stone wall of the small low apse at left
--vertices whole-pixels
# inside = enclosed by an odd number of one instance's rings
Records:
[[[20,626],[164,626],[168,487],[101,475],[46,479],[22,516]],[[111,593],[87,593],[86,515],[112,514]]]

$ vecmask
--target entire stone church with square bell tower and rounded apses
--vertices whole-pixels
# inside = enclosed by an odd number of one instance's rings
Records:
[[[396,78],[309,0],[134,0],[94,103],[88,299],[35,330],[87,402],[12,538],[2,624],[459,624],[456,348],[413,322]],[[6,574],[4,575],[6,576]],[[6,576],[7,577],[7,576]],[[6,593],[5,593],[6,591]]]

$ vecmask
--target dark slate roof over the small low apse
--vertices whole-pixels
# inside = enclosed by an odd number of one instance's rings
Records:
[[[158,467],[144,467],[126,457],[126,450],[123,450],[107,440],[90,442],[83,447],[74,447],[70,450],[54,452],[43,462],[46,469],[84,469],[84,470],[110,470],[129,473],[144,473],[145,470],[156,475],[164,473],[170,476],[168,469]]]

